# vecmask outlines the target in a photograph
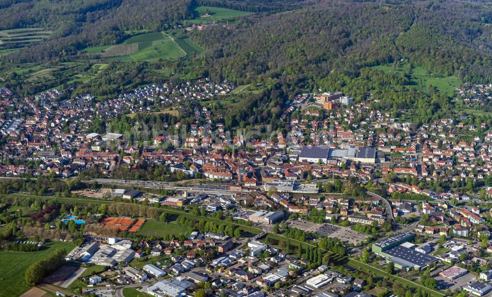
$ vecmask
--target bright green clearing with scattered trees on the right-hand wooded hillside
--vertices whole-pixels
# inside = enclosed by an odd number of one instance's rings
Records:
[[[405,73],[407,67],[407,63],[400,63],[396,69],[393,68],[393,64],[374,66],[371,69],[401,75]],[[435,77],[432,73],[428,75],[427,71],[420,66],[414,66],[410,71],[410,76],[411,87],[427,92],[429,85],[432,85],[440,92],[447,93],[449,96],[452,96],[454,90],[460,87],[461,84],[461,80],[454,76],[440,78]]]

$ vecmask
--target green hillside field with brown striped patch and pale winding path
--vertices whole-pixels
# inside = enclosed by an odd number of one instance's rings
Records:
[[[184,50],[180,48],[181,44],[184,46]],[[90,47],[84,51],[100,54],[101,58],[108,60],[151,61],[178,59],[188,52],[201,52],[203,49],[192,44],[187,38],[176,43],[162,32],[148,32],[131,36],[120,44]]]

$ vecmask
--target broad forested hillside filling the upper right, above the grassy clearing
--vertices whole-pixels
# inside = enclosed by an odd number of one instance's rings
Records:
[[[410,59],[465,81],[492,80],[491,7],[461,1],[394,4],[325,0],[236,30],[197,31],[217,79],[282,75],[321,81],[333,71],[354,77],[361,67]]]

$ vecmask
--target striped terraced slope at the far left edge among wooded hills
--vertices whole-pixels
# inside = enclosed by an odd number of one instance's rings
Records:
[[[26,47],[43,42],[52,31],[43,28],[23,28],[0,31],[0,51],[4,49]]]

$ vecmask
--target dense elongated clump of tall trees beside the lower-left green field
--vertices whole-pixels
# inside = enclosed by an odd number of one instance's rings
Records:
[[[48,257],[31,264],[26,270],[26,284],[31,287],[35,286],[39,284],[43,277],[48,273],[62,267],[65,262],[65,255],[66,250],[64,248],[58,248]]]

